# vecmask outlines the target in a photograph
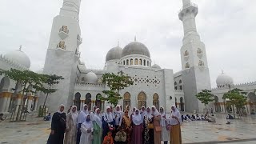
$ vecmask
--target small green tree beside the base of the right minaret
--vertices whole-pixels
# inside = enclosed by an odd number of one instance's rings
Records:
[[[209,102],[214,101],[214,96],[213,94],[211,94],[211,90],[202,90],[202,92],[199,92],[195,96],[198,98],[199,101],[201,101],[206,106],[206,108]]]

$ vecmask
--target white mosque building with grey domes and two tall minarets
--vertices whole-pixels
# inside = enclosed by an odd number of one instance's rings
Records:
[[[120,93],[123,96],[120,104],[131,107],[178,106],[181,111],[202,112],[204,106],[194,96],[201,90],[212,90],[215,101],[210,104],[215,112],[226,113],[224,93],[230,88],[239,88],[248,92],[247,113],[255,110],[256,82],[234,85],[233,79],[222,73],[216,79],[217,88],[210,86],[210,74],[206,58],[206,47],[197,32],[195,17],[198,6],[190,0],[182,0],[182,9],[178,18],[183,23],[184,38],[180,49],[182,70],[174,73],[171,69],[162,69],[152,65],[150,50],[141,42],[128,43],[126,46],[116,46],[106,54],[106,63],[102,70],[90,70],[80,60],[79,46],[82,34],[79,26],[79,9],[81,0],[63,0],[63,6],[58,16],[54,17],[50,34],[50,42],[46,54],[46,62],[42,74],[62,75],[64,80],[57,86],[58,91],[51,94],[47,100],[50,111],[56,110],[59,104],[76,105],[81,110],[84,103],[90,108],[96,105],[102,110],[107,102],[98,99],[105,96],[102,91],[107,90],[101,82],[102,74],[117,73],[122,70],[134,80],[134,85],[127,87]],[[14,52],[0,56],[0,70],[30,69],[30,58],[20,48]],[[0,113],[10,111],[10,103],[20,102],[21,94],[14,95],[15,82],[0,76]],[[36,110],[42,105],[44,94],[28,94],[27,105],[30,110]]]

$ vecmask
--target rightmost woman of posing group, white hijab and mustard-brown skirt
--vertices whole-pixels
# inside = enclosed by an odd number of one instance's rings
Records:
[[[182,118],[181,114],[176,108],[175,105],[171,106],[171,114],[170,114],[170,143],[182,144],[182,133],[181,133],[181,125]]]

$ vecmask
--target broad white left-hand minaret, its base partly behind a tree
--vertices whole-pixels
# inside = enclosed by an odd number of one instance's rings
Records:
[[[43,74],[60,75],[64,80],[55,87],[57,92],[50,94],[47,99],[46,105],[50,112],[54,112],[60,104],[73,104],[74,82],[80,58],[79,46],[82,43],[79,26],[80,2],[81,0],[63,0],[60,13],[54,17]],[[39,106],[45,98],[44,95],[39,98]]]

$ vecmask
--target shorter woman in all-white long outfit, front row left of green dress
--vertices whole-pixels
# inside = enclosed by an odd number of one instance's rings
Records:
[[[81,132],[80,144],[92,144],[94,124],[90,120],[90,114],[86,115],[86,122],[82,123]]]

